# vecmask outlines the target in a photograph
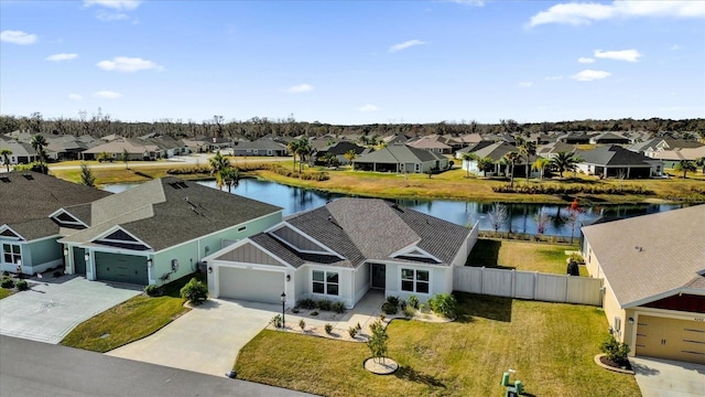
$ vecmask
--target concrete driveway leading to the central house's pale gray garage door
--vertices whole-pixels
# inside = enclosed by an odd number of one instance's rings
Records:
[[[224,376],[240,348],[280,312],[278,304],[210,299],[156,333],[106,354]]]

